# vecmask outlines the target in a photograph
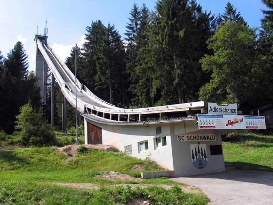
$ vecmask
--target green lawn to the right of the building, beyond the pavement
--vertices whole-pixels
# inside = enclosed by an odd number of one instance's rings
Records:
[[[223,142],[224,160],[240,169],[273,171],[273,135],[237,131]]]

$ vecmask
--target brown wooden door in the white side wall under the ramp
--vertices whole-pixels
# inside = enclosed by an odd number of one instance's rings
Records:
[[[88,144],[102,144],[102,130],[96,125],[87,123],[87,143]]]

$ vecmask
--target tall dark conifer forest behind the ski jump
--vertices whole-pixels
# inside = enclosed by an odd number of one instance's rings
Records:
[[[222,14],[204,11],[195,0],[159,0],[155,8],[133,4],[125,38],[115,22],[90,20],[83,47],[76,44],[65,63],[74,73],[76,53],[80,82],[120,107],[209,101],[238,103],[248,114],[273,97],[273,3],[262,2],[267,10],[260,28],[251,28],[229,2]],[[55,124],[61,126],[57,83],[55,89]],[[23,44],[18,41],[6,57],[0,51],[0,130],[12,133],[19,107],[28,102],[50,120],[50,103],[42,106],[39,93]],[[74,111],[68,105],[68,127],[75,126]]]

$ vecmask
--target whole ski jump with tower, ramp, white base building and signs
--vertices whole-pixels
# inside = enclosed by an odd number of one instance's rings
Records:
[[[220,114],[211,113],[209,103],[204,101],[131,109],[116,107],[97,97],[76,79],[52,50],[46,35],[36,35],[35,42],[36,76],[43,104],[48,103],[47,68],[52,73],[51,125],[54,126],[55,79],[63,93],[63,131],[66,128],[66,101],[73,107],[77,101],[78,111],[84,117],[85,144],[114,145],[128,155],[152,158],[171,170],[163,176],[224,171],[221,134],[237,129],[266,128],[263,116],[238,115],[236,104],[232,105],[235,107],[224,106],[232,108],[234,113]],[[215,110],[226,110],[217,104],[213,106]],[[254,126],[253,121],[258,126]]]

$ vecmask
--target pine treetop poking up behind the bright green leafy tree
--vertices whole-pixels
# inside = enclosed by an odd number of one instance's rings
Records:
[[[225,6],[225,12],[222,14],[222,19],[224,21],[234,21],[236,23],[242,23],[247,26],[244,18],[241,16],[240,12],[236,12],[237,8],[234,9],[233,5],[230,2],[227,2],[227,6]]]

